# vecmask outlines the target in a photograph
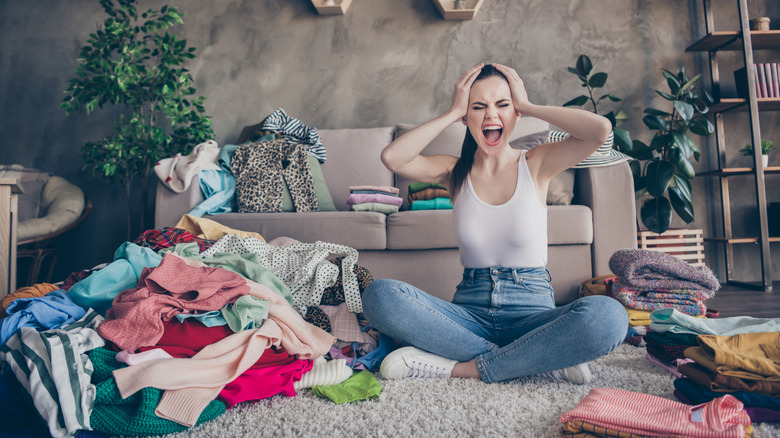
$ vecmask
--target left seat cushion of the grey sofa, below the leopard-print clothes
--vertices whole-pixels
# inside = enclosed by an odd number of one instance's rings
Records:
[[[328,161],[331,158],[329,153]],[[260,233],[267,241],[291,237],[304,243],[322,240],[357,250],[386,248],[387,216],[372,211],[224,213],[204,217],[230,228]]]

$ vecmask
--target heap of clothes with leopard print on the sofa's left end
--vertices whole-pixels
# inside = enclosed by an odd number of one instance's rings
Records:
[[[201,217],[238,212],[334,210],[327,187],[316,183],[327,154],[317,128],[277,108],[262,123],[241,133],[238,145],[213,140],[189,155],[161,159],[160,182],[176,193],[199,184],[204,201],[189,214]],[[320,205],[325,201],[326,205]]]

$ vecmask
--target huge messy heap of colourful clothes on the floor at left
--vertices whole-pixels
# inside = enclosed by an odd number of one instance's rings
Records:
[[[0,416],[23,436],[157,435],[307,388],[377,397],[366,370],[392,341],[362,317],[373,278],[356,262],[192,216],[149,230],[111,263],[2,301]]]

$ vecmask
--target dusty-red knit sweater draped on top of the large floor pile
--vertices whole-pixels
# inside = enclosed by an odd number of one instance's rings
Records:
[[[165,254],[158,267],[144,268],[135,289],[114,298],[97,331],[124,350],[153,346],[163,335],[163,320],[178,313],[219,310],[248,292],[246,280],[236,273],[192,267]]]

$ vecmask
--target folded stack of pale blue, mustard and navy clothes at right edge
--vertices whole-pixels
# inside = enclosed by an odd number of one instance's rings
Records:
[[[706,403],[729,394],[754,422],[780,422],[780,318],[693,318],[651,314],[652,351],[677,376],[675,396]]]

